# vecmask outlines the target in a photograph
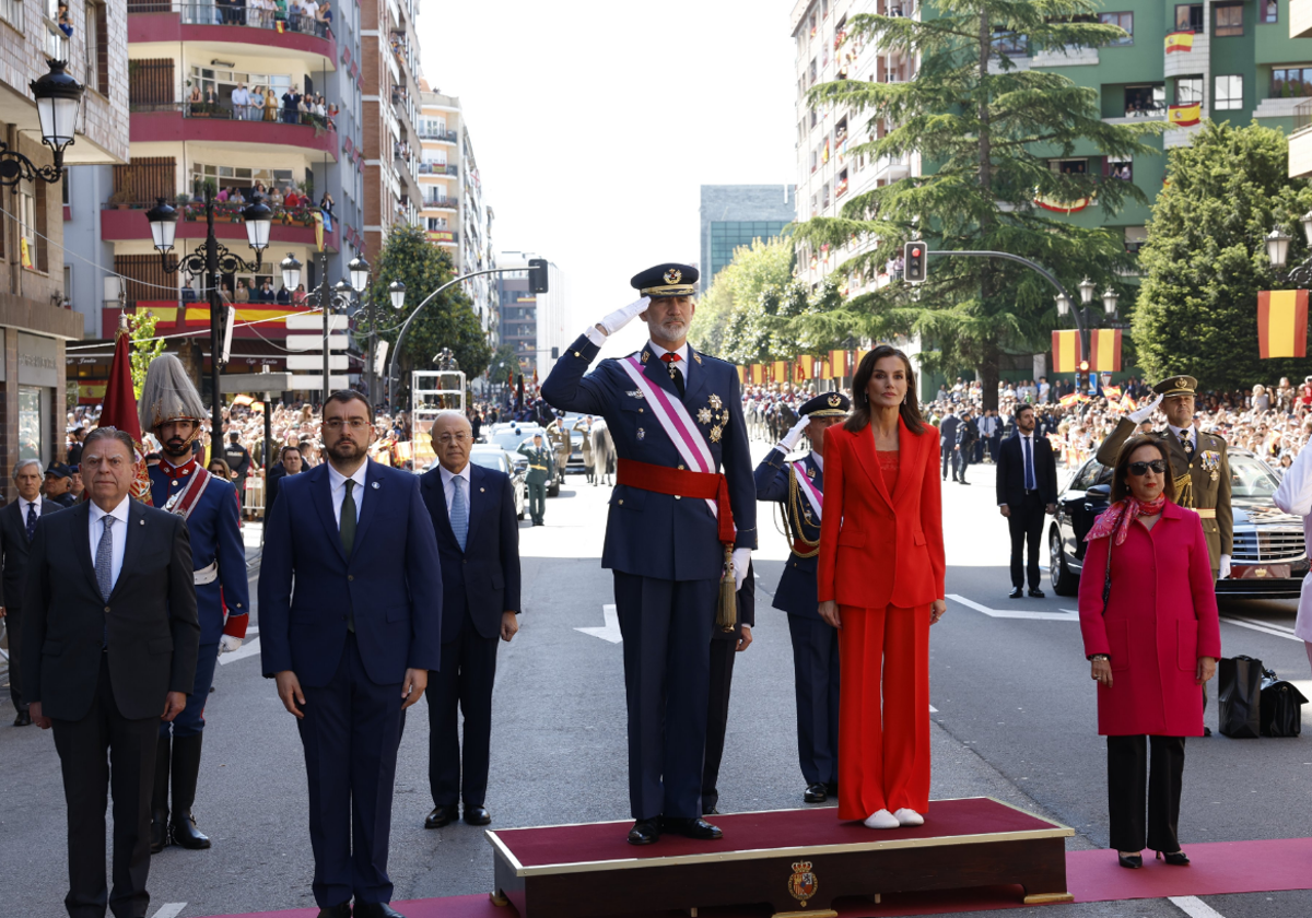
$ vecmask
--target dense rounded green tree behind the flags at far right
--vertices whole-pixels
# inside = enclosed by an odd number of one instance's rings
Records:
[[[1193,140],[1170,151],[1139,250],[1139,366],[1153,379],[1189,374],[1204,389],[1312,374],[1312,359],[1261,359],[1257,332],[1258,291],[1295,286],[1281,283],[1262,237],[1283,226],[1287,264],[1308,256],[1299,215],[1312,209],[1312,185],[1288,178],[1281,131],[1210,122]]]

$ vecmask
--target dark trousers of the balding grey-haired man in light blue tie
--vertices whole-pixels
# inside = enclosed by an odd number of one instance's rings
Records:
[[[463,800],[470,808],[487,801],[492,685],[500,640],[483,637],[464,612],[461,633],[442,644],[442,669],[428,674],[428,786],[437,807],[454,807]],[[461,713],[464,715],[463,759]]]

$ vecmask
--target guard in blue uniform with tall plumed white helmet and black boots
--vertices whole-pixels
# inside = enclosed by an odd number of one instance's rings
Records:
[[[186,519],[201,622],[195,686],[182,713],[172,724],[160,724],[151,800],[152,852],[163,851],[171,839],[185,848],[210,847],[210,839],[195,828],[192,814],[201,772],[205,702],[210,696],[219,653],[241,647],[249,620],[245,547],[236,492],[230,481],[205,471],[192,450],[206,413],[199,392],[176,357],[163,354],[151,361],[138,401],[142,430],[154,433],[161,446],[160,464],[150,469],[151,502]]]

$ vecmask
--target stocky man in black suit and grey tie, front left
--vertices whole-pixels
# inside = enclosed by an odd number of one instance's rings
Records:
[[[68,807],[71,918],[144,918],[160,720],[186,706],[201,628],[186,521],[129,497],[133,439],[97,428],[91,501],[37,526],[24,589],[22,691],[55,728]],[[106,754],[108,753],[108,754]],[[113,770],[110,770],[113,761]],[[105,789],[114,797],[114,888],[105,884]]]

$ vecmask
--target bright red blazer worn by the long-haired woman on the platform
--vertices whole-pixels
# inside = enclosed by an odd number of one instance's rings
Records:
[[[938,430],[897,420],[897,485],[890,493],[867,426],[824,435],[820,602],[913,609],[943,598],[943,511]]]

